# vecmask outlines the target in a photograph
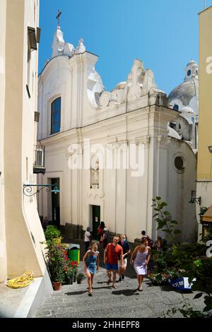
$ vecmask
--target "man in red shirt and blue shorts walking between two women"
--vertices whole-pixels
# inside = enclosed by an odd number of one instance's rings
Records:
[[[117,288],[116,284],[116,273],[118,272],[118,260],[121,259],[122,268],[124,268],[124,261],[123,261],[123,249],[118,244],[119,237],[114,236],[113,242],[107,244],[104,252],[104,264],[106,265],[107,269],[107,285],[110,285],[112,281],[112,287]],[[112,280],[111,280],[111,272]]]

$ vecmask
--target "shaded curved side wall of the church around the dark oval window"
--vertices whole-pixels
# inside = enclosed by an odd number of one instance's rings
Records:
[[[179,156],[184,160],[184,169],[177,170],[175,158]],[[197,222],[195,217],[195,204],[189,203],[192,190],[195,190],[196,157],[187,143],[172,138],[169,145],[169,177],[168,201],[172,218],[179,222],[182,238],[185,241],[196,241]]]

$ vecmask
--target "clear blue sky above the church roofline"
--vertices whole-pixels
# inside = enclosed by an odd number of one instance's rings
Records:
[[[204,0],[40,0],[39,72],[52,54],[58,9],[64,40],[76,47],[82,37],[86,50],[99,56],[95,68],[106,90],[125,81],[141,59],[168,94],[182,83],[187,62],[199,62]]]

